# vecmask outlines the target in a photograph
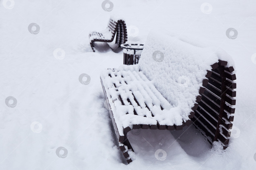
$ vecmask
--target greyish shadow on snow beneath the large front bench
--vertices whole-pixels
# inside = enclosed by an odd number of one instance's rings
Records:
[[[104,96],[99,96],[105,101]],[[102,107],[105,108],[104,102]],[[116,134],[113,128],[109,111],[106,109],[108,125],[111,128],[111,137],[113,144],[119,149]],[[194,126],[185,126],[182,130],[151,130],[151,129],[133,129],[127,133],[127,137],[136,153],[136,157],[143,160],[155,161],[154,153],[157,149],[166,150],[167,153],[179,154],[181,150],[188,156],[199,158],[205,155],[211,149],[211,145],[206,138]],[[127,164],[121,151],[119,152],[120,163]],[[168,159],[173,156],[168,154]]]

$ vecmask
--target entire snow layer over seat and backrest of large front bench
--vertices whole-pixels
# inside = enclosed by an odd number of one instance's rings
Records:
[[[101,73],[120,135],[136,124],[182,125],[211,65],[220,58],[233,63],[221,50],[167,34],[149,34],[138,65]]]

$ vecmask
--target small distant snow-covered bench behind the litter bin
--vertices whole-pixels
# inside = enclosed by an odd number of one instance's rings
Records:
[[[112,16],[109,19],[107,28],[103,31],[92,31],[89,33],[89,42],[93,52],[95,52],[94,42],[110,43],[114,40],[116,35],[115,44],[119,47],[127,41],[127,30],[124,20]]]

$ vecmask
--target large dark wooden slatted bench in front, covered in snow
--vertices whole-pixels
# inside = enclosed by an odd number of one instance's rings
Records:
[[[101,72],[128,163],[133,149],[126,134],[131,129],[180,130],[193,122],[211,144],[219,141],[225,149],[229,143],[236,95],[233,60],[221,49],[167,35],[150,32],[137,65]]]

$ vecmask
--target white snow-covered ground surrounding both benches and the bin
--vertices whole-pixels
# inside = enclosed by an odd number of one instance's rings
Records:
[[[0,169],[256,169],[254,0],[209,0],[205,8],[200,0],[112,0],[109,12],[103,0],[0,2]],[[122,163],[99,77],[119,67],[123,54],[104,45],[93,53],[88,42],[88,32],[103,30],[112,14],[125,19],[129,41],[144,43],[161,27],[233,57],[235,131],[226,150],[211,148],[194,127],[141,130],[128,134],[136,160]],[[31,23],[37,29],[29,31]],[[238,31],[235,39],[226,36],[229,28]],[[82,73],[89,84],[79,82]],[[15,107],[6,105],[8,96]],[[155,158],[158,149],[164,161]]]

